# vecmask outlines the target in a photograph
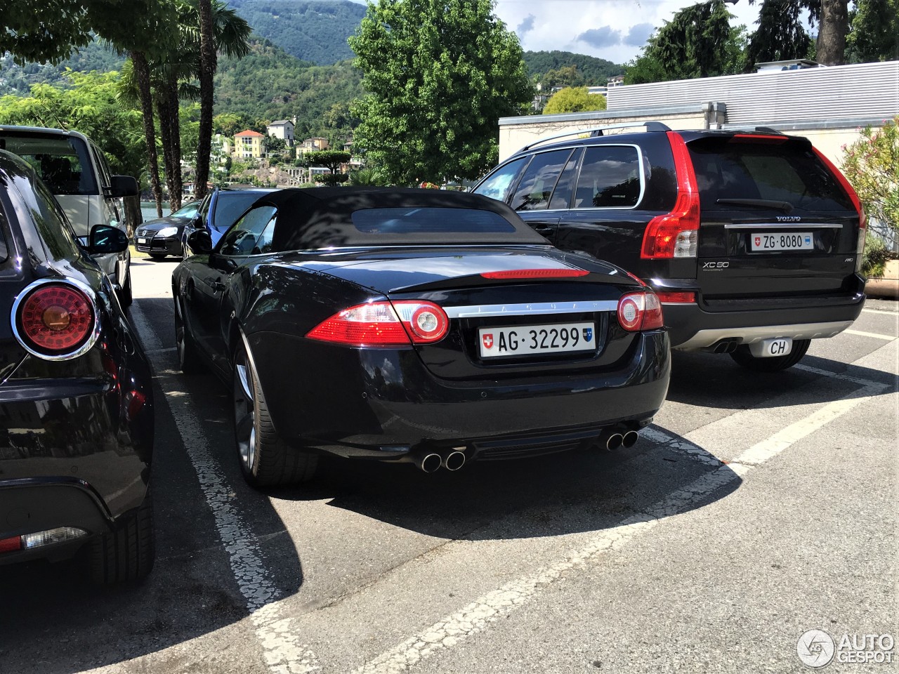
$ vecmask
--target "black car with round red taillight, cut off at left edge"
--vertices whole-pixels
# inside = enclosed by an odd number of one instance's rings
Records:
[[[117,227],[83,249],[47,187],[0,151],[0,566],[82,554],[95,581],[153,566],[150,369],[110,280]]]

